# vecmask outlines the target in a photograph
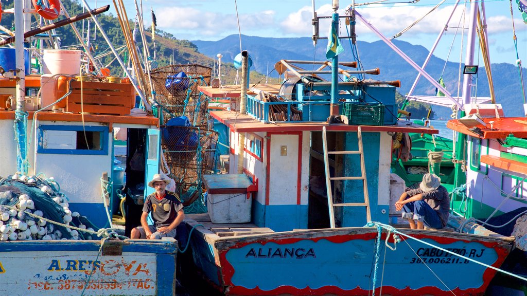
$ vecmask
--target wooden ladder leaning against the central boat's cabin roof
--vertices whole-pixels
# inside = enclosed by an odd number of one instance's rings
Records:
[[[365,206],[366,207],[366,220],[367,222],[372,221],[372,214],[369,208],[369,195],[368,195],[368,184],[366,181],[366,166],[364,164],[364,151],[362,143],[362,132],[360,126],[357,129],[357,140],[359,150],[357,151],[328,151],[326,127],[322,127],[322,143],[324,149],[324,164],[326,166],[326,188],[328,192],[328,208],[329,208],[329,223],[331,228],[335,228],[335,206]],[[330,177],[329,176],[329,157],[328,154],[359,154],[360,155],[360,176],[341,176],[341,177]],[[336,163],[336,161],[335,161]],[[351,202],[351,203],[334,203],[333,202],[333,189],[331,188],[331,181],[333,180],[363,180],[363,191],[364,191],[364,202]]]

